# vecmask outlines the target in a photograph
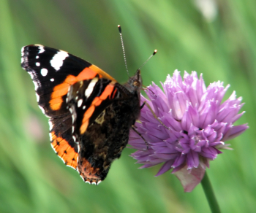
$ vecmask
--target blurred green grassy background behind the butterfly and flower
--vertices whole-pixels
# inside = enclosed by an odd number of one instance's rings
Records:
[[[43,44],[85,58],[125,82],[117,25],[131,74],[143,84],[175,69],[203,73],[206,85],[230,84],[246,103],[238,123],[249,130],[211,162],[208,176],[222,212],[255,212],[256,1],[254,0],[1,0],[0,212],[210,212],[203,189],[184,193],[160,166],[141,169],[125,149],[99,186],[85,184],[50,147],[48,119],[20,67],[20,48]]]

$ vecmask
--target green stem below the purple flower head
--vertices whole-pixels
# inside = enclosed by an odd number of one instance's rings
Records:
[[[211,208],[211,212],[218,213],[220,212],[219,204],[217,203],[217,199],[214,195],[214,190],[211,187],[210,179],[208,178],[208,175],[205,173],[205,176],[203,177],[201,184],[203,186],[203,190],[206,194],[206,198],[208,201],[208,204]]]

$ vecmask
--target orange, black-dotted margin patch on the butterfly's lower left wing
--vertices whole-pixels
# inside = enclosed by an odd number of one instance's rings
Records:
[[[77,169],[78,166],[78,152],[69,145],[69,143],[62,137],[57,137],[54,132],[51,133],[51,145],[56,151],[57,155],[64,161],[67,166]]]

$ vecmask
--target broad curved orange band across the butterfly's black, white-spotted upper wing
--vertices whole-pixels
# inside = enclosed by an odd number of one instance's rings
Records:
[[[68,75],[64,82],[53,88],[53,93],[50,96],[50,108],[53,110],[61,109],[61,104],[63,102],[62,96],[67,95],[70,85],[74,85],[78,81],[93,79],[97,74],[99,74],[99,78],[104,77],[116,82],[116,80],[114,80],[113,77],[110,77],[109,74],[105,73],[105,71],[99,69],[99,67],[95,65],[91,65],[83,69],[77,77]]]

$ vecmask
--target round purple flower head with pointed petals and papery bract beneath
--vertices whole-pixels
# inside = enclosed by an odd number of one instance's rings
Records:
[[[203,179],[209,160],[217,158],[221,149],[230,150],[225,141],[248,128],[246,124],[233,125],[244,114],[238,113],[244,104],[235,92],[222,102],[229,85],[224,88],[218,81],[206,88],[202,74],[198,79],[196,71],[185,71],[182,80],[176,70],[162,88],[164,91],[153,82],[146,90],[150,101],[141,95],[141,103],[146,101],[165,126],[143,107],[140,123],[135,124],[141,136],[135,131],[129,135],[129,144],[138,150],[132,158],[143,164],[141,169],[164,163],[157,176],[173,169],[189,192]]]

